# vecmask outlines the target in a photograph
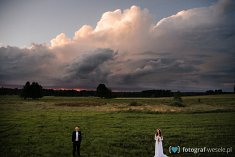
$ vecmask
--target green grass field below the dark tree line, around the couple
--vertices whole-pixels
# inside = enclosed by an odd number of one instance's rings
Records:
[[[199,101],[200,99],[200,101]],[[234,156],[235,95],[100,99],[0,97],[1,157],[70,157],[71,133],[81,126],[82,156],[153,157],[154,133],[161,128],[168,156]],[[137,106],[129,105],[137,102]],[[169,146],[233,147],[226,153],[170,154]]]

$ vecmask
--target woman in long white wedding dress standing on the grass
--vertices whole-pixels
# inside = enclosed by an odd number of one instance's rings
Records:
[[[157,129],[155,134],[155,156],[154,157],[167,157],[165,154],[163,154],[163,147],[162,147],[162,141],[163,136],[161,134],[161,130]]]

